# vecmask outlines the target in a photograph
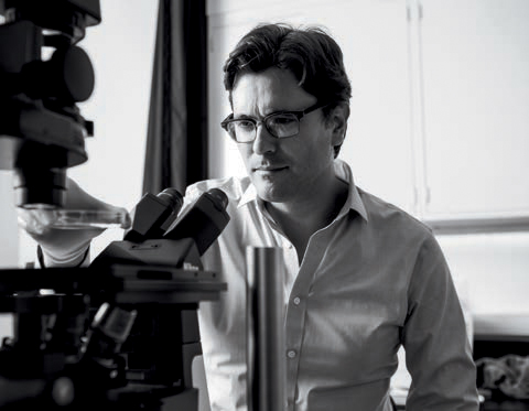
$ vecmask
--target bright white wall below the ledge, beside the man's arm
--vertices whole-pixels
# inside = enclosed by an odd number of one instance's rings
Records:
[[[529,335],[529,234],[439,236],[454,277],[461,281],[475,329]]]

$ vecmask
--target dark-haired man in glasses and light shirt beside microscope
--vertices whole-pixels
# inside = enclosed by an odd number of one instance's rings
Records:
[[[223,127],[248,176],[193,184],[182,212],[212,187],[229,198],[230,223],[203,256],[228,283],[199,309],[213,410],[246,409],[247,246],[284,251],[287,410],[391,410],[401,345],[412,376],[407,411],[477,410],[439,245],[420,221],[357,187],[337,160],[350,97],[338,45],[319,30],[258,26],[230,54],[225,85],[233,113]],[[40,240],[45,261],[64,261],[56,242],[46,250]],[[66,253],[78,262],[85,249]]]

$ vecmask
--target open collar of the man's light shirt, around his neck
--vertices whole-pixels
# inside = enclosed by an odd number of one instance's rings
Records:
[[[345,161],[336,159],[334,161],[334,172],[339,180],[346,182],[349,185],[347,201],[345,202],[345,206],[342,208],[342,212],[338,214],[338,218],[342,217],[349,209],[353,209],[357,212],[367,221],[367,210],[364,202],[361,201],[360,193],[355,185],[353,172],[350,171],[349,165]],[[244,205],[251,202],[259,202],[256,186],[253,184],[249,184],[248,188],[242,193],[237,208],[242,207]]]

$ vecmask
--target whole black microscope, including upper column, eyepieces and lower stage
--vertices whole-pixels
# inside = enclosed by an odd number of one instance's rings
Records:
[[[0,169],[14,173],[18,207],[60,210],[94,133],[76,106],[94,89],[78,44],[101,21],[99,1],[0,0]],[[13,335],[0,346],[0,410],[197,410],[197,309],[226,290],[201,257],[226,206],[210,190],[181,215],[177,191],[147,193],[88,267],[1,270]]]

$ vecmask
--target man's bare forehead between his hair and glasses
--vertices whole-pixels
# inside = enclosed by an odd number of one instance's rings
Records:
[[[234,112],[261,116],[278,110],[299,110],[316,98],[298,84],[291,71],[277,67],[237,76],[231,93]]]

